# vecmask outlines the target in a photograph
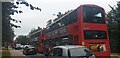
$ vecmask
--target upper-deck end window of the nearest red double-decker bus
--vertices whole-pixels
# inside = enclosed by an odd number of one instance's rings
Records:
[[[86,23],[105,23],[104,9],[95,6],[84,6],[84,22]]]

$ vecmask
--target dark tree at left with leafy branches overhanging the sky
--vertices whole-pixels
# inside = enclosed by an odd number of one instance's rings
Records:
[[[3,2],[2,3],[2,43],[4,42],[10,42],[13,40],[14,29],[15,28],[21,28],[21,26],[15,25],[11,23],[10,21],[21,23],[20,20],[16,20],[14,18],[11,18],[10,15],[14,15],[14,13],[23,13],[21,10],[16,10],[18,5],[24,4],[25,6],[29,7],[31,10],[39,10],[41,9],[39,7],[34,7],[32,4],[27,3],[26,1],[19,0],[15,3],[13,2]]]

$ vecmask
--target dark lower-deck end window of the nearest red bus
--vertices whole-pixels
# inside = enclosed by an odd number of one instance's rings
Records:
[[[106,31],[100,30],[85,30],[84,38],[85,39],[106,39]]]

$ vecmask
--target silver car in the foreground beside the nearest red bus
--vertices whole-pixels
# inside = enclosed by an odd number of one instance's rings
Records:
[[[95,58],[85,46],[66,45],[53,47],[45,56],[67,56],[67,58]]]

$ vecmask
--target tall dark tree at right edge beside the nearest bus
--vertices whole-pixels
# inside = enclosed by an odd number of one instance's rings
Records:
[[[110,5],[109,5],[110,6]],[[120,1],[117,2],[117,7],[112,7],[107,14],[108,28],[110,35],[110,45],[112,52],[120,52]]]

